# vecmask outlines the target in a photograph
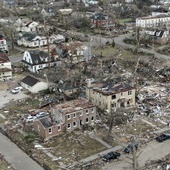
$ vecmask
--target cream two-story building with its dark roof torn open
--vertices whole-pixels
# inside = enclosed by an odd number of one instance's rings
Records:
[[[135,105],[135,87],[127,83],[98,83],[87,79],[86,98],[102,110],[116,111],[120,107]]]

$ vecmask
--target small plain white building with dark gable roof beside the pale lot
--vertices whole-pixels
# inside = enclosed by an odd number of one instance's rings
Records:
[[[48,89],[48,83],[40,81],[32,76],[26,76],[20,82],[21,86],[31,93],[38,93],[39,91]]]

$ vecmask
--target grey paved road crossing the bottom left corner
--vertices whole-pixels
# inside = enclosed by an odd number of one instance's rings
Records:
[[[16,170],[43,170],[43,168],[0,133],[0,153]]]

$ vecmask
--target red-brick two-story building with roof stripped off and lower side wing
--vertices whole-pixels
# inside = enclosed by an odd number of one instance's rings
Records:
[[[71,132],[96,119],[96,107],[79,98],[51,107],[51,116],[34,121],[34,130],[45,140],[65,132]]]

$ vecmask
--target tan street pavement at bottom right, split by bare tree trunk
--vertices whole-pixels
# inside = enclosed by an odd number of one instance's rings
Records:
[[[139,166],[143,167],[147,161],[157,160],[164,158],[170,153],[170,140],[158,143],[156,141],[149,142],[148,145],[141,149],[141,155],[139,156]],[[140,152],[139,151],[139,152]],[[102,168],[103,170],[132,170],[132,167],[128,162],[130,159],[127,158],[129,155],[122,153],[120,161],[112,161]]]

